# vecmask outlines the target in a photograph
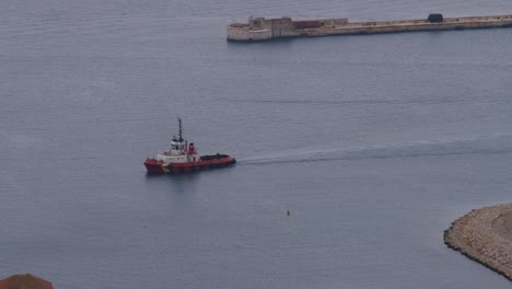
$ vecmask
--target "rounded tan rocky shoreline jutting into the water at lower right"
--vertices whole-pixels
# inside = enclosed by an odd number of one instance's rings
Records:
[[[444,243],[512,280],[512,204],[472,210],[444,231]]]

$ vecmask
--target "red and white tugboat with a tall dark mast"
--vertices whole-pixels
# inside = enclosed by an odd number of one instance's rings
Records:
[[[148,173],[189,173],[236,163],[228,154],[199,155],[194,142],[188,143],[182,137],[182,118],[178,118],[178,124],[179,137],[173,137],[170,149],[156,154],[154,159],[146,159]]]

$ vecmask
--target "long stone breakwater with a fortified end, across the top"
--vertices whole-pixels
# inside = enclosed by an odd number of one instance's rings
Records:
[[[294,21],[290,18],[249,18],[247,23],[228,25],[228,41],[258,42],[283,37],[314,37],[418,31],[512,27],[512,14],[491,16],[443,18],[430,14],[421,20],[349,22],[348,19]]]

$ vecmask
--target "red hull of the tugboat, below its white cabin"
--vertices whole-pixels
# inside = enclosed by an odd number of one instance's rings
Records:
[[[206,160],[203,160],[205,158]],[[161,174],[161,173],[191,173],[203,170],[224,167],[236,163],[235,158],[230,155],[206,155],[201,157],[200,161],[197,162],[185,162],[185,163],[165,163],[154,159],[146,159],[144,165],[148,173]]]

